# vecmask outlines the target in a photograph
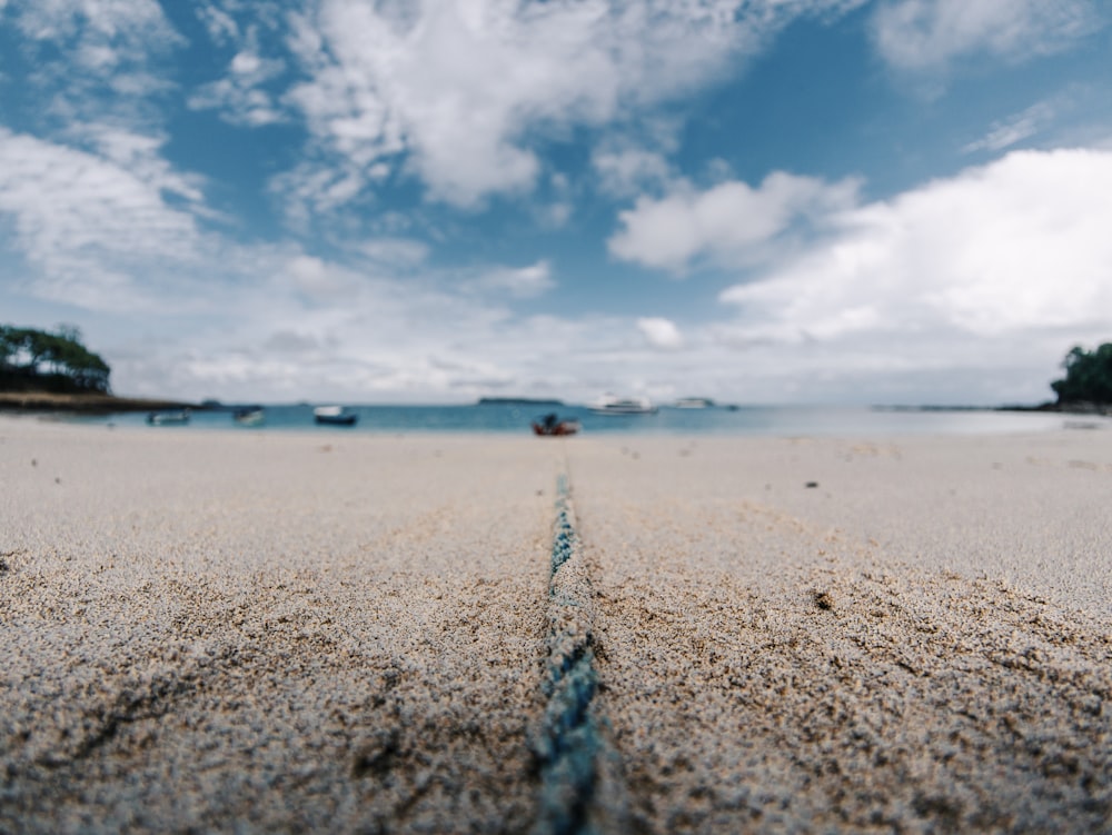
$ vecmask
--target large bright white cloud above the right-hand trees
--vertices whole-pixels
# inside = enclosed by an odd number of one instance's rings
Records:
[[[1016,151],[848,210],[834,238],[726,290],[738,319],[719,337],[841,370],[1060,357],[1112,328],[1109,193],[1108,151]]]

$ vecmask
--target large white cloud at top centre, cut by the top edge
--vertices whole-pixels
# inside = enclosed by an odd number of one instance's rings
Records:
[[[758,51],[790,20],[861,0],[319,0],[290,48],[310,80],[288,95],[356,171],[405,165],[473,206],[530,189],[530,146],[673,98]]]

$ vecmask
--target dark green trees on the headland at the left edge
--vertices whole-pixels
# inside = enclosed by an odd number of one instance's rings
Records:
[[[111,369],[81,344],[81,331],[0,325],[0,390],[109,394]]]

